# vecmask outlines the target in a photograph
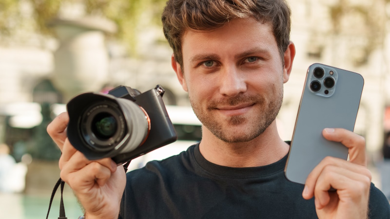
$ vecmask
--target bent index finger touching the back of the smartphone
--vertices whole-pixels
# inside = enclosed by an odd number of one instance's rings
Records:
[[[348,147],[350,162],[366,166],[366,140],[352,131],[344,128],[325,128],[323,136],[330,141],[340,142]]]

